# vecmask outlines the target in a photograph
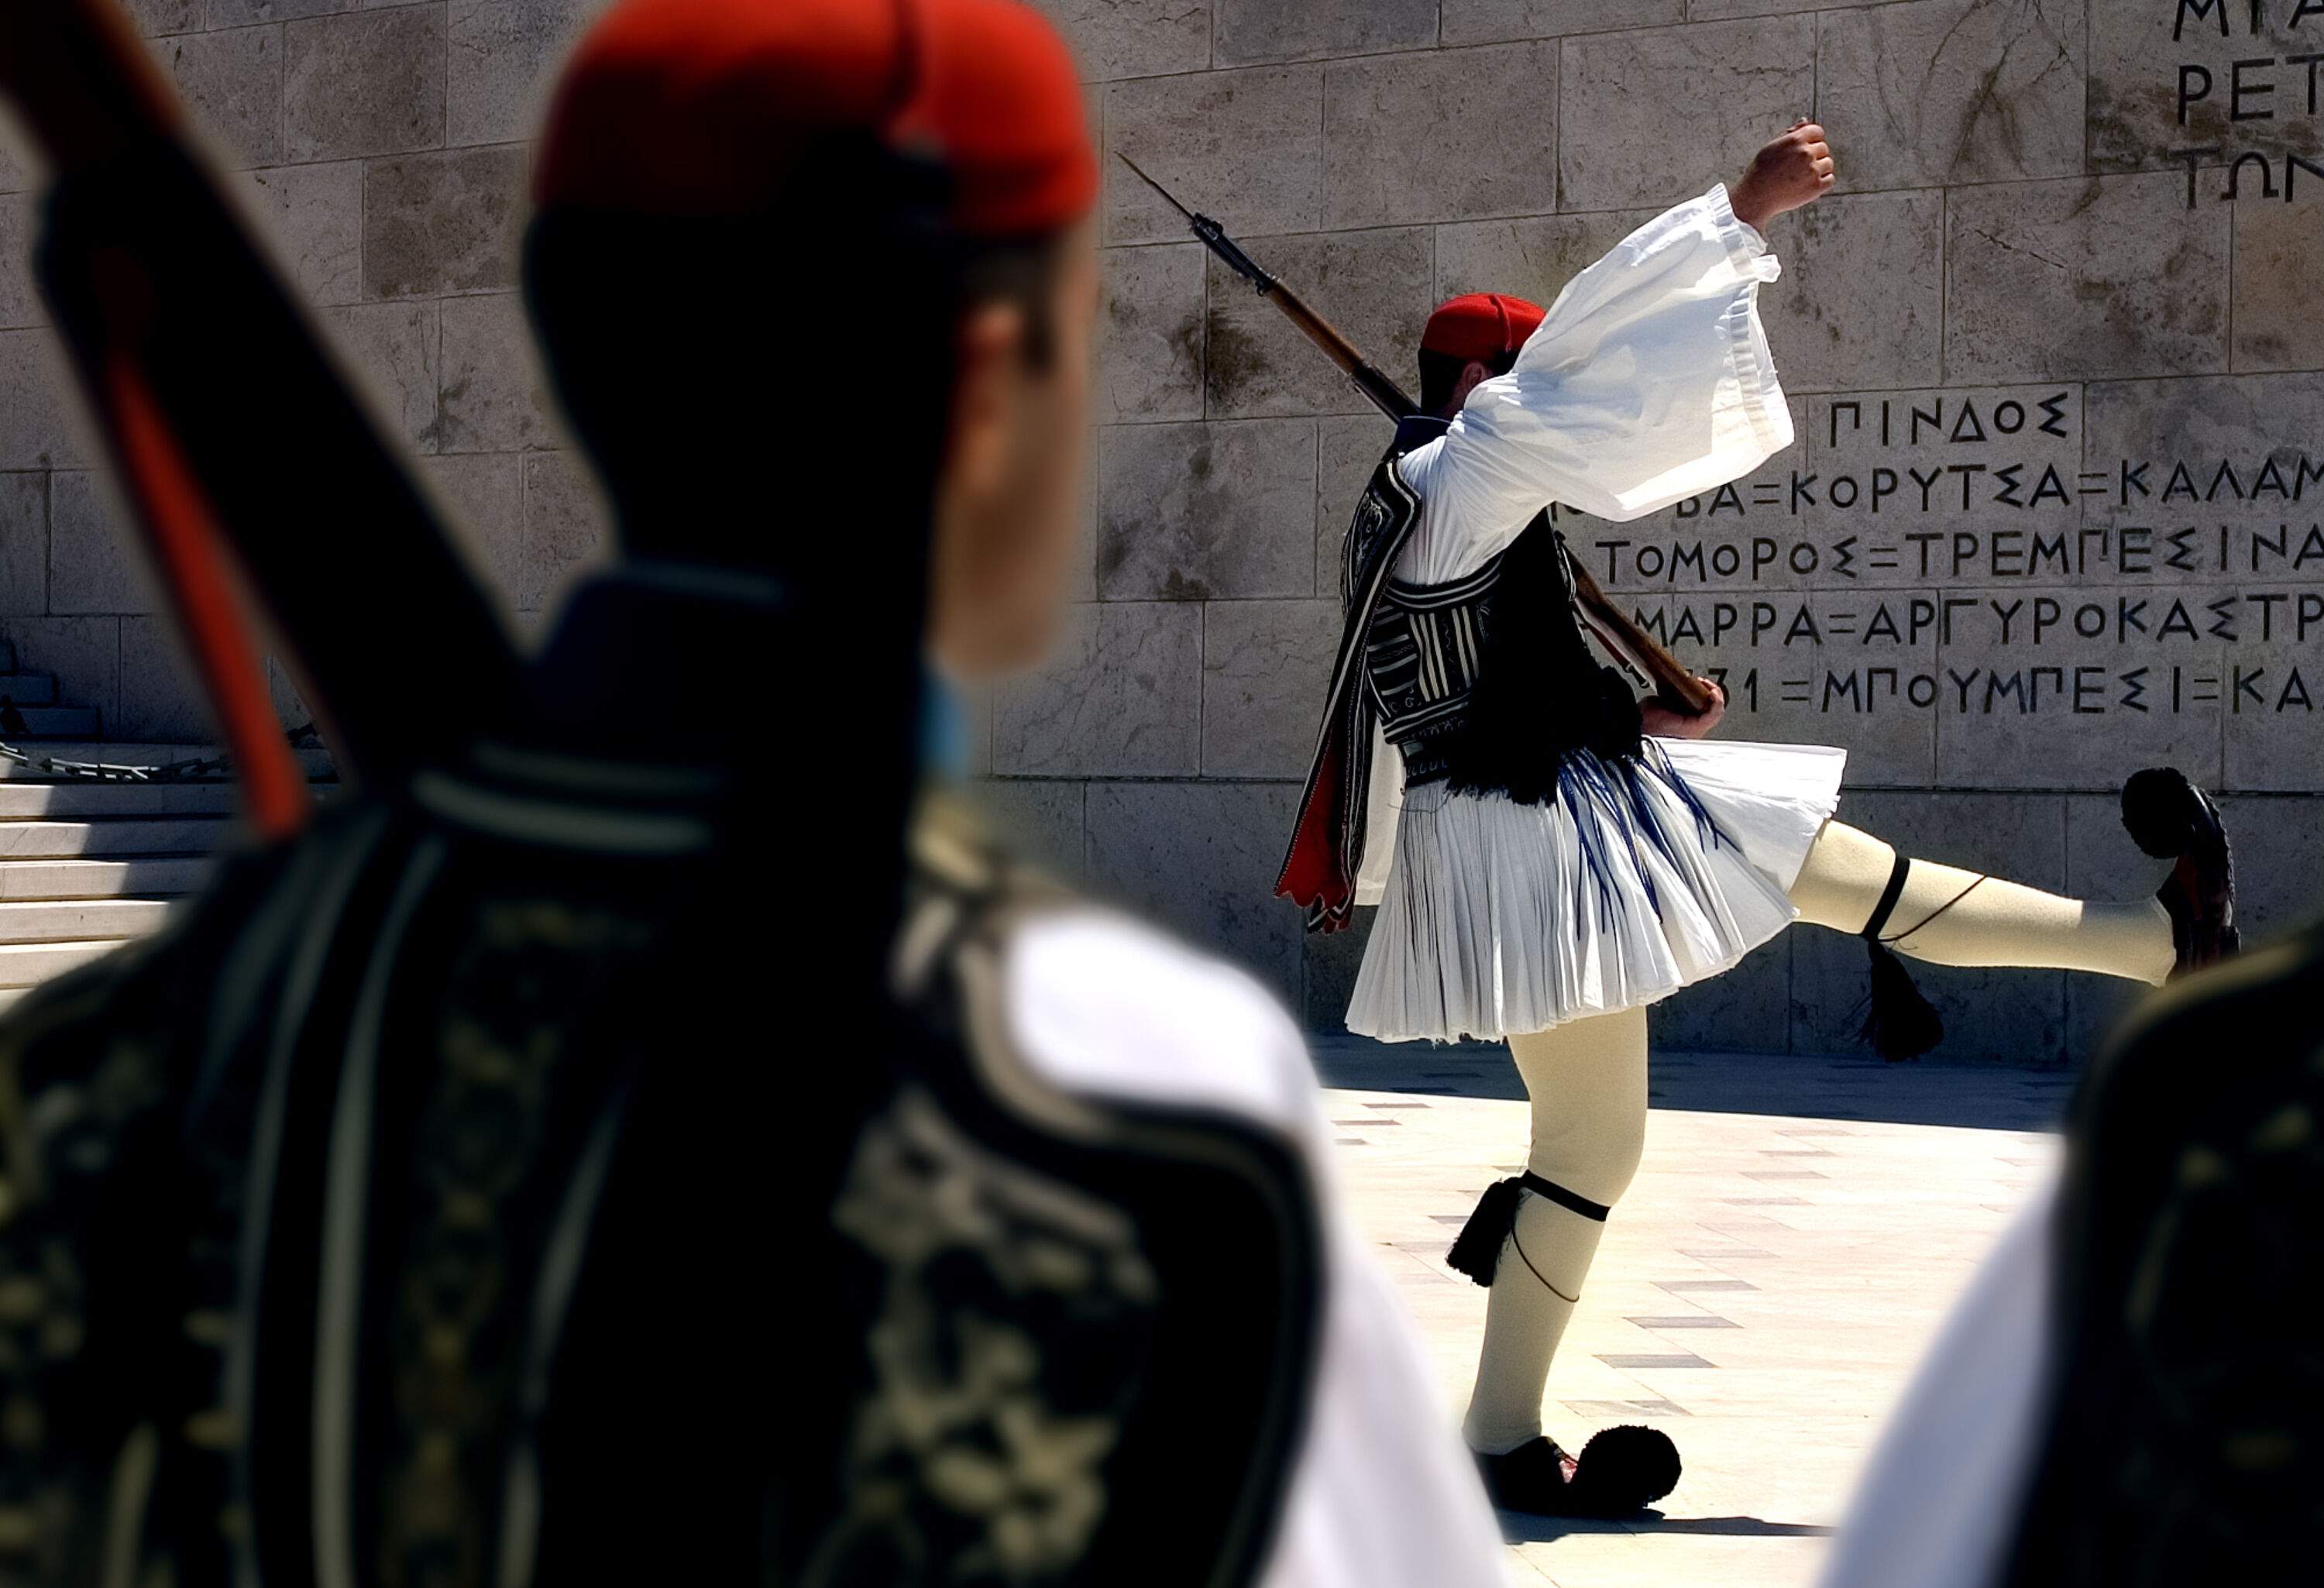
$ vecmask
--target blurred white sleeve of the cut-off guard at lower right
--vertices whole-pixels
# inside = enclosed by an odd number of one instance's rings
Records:
[[[1989,1588],[2001,1572],[2050,1381],[2054,1195],[2017,1216],[1922,1360],[1822,1588]]]

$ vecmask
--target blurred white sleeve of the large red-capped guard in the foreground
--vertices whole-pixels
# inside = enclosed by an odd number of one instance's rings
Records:
[[[1009,944],[1025,1063],[1067,1090],[1229,1109],[1290,1139],[1325,1225],[1315,1407],[1264,1588],[1499,1588],[1501,1537],[1420,1335],[1348,1218],[1306,1042],[1250,977],[1104,911]]]

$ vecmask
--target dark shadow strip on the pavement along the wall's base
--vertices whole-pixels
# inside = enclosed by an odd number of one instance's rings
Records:
[[[1315,1037],[1325,1086],[1432,1097],[1525,1100],[1508,1049],[1434,1046]],[[1657,1109],[1697,1114],[1771,1114],[1785,1118],[1957,1125],[1968,1130],[2054,1130],[2073,1095],[2073,1074],[1989,1065],[1882,1065],[1820,1053],[1666,1053],[1652,1056]]]

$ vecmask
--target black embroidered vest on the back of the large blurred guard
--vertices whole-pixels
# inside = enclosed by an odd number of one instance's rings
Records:
[[[818,1009],[709,779],[486,749],[0,1021],[0,1581],[1255,1581],[1297,1153],[1046,1086],[974,842]]]

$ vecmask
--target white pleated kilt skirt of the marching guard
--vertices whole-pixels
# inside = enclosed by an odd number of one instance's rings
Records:
[[[1383,1042],[1497,1042],[1669,997],[1787,928],[1848,751],[1648,739],[1555,802],[1406,791],[1348,1007]]]

